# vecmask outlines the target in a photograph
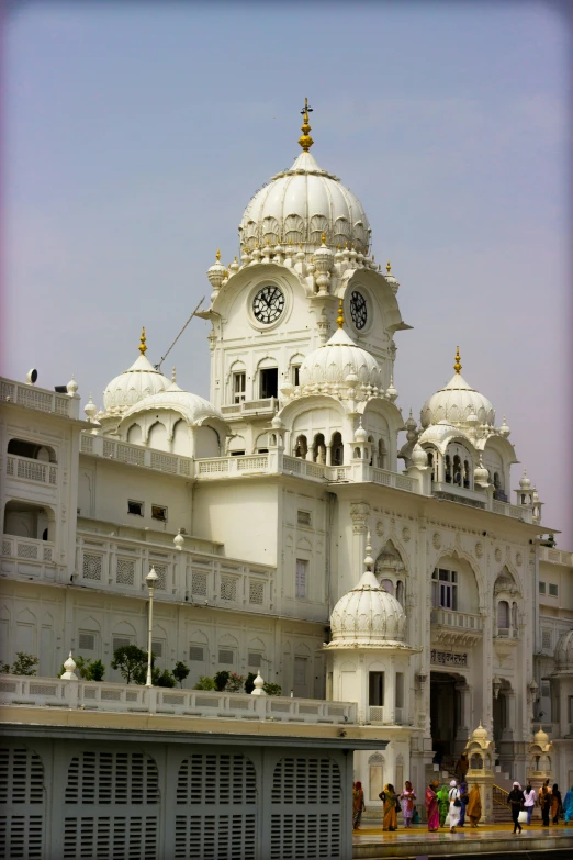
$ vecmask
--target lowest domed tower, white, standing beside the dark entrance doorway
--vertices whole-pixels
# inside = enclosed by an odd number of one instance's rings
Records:
[[[364,572],[335,605],[332,640],[323,650],[327,656],[327,697],[357,702],[358,722],[384,726],[391,741],[383,764],[377,753],[374,766],[369,763],[369,752],[356,753],[355,758],[355,778],[368,789],[367,803],[372,800],[378,805],[383,782],[408,778],[409,726],[414,722],[409,659],[419,649],[406,643],[406,613],[379,584],[373,563],[368,535]]]

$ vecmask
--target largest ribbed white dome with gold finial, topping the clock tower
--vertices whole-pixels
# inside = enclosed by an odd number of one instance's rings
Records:
[[[299,141],[303,152],[291,169],[273,176],[250,200],[239,224],[240,243],[248,250],[292,243],[310,252],[319,247],[324,233],[332,247],[348,243],[367,254],[371,230],[366,212],[356,194],[308,152],[313,141],[307,123],[305,113]]]

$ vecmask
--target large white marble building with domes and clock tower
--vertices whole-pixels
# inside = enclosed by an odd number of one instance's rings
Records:
[[[114,648],[146,645],[153,565],[154,650],[191,667],[186,686],[260,671],[384,726],[387,748],[355,758],[367,802],[386,781],[420,790],[480,721],[520,780],[532,721],[547,724],[571,783],[573,688],[558,705],[542,680],[573,626],[571,556],[565,602],[543,615],[541,503],[459,351],[419,425],[403,416],[400,284],[308,132],[305,118],[303,152],[245,210],[240,258],[207,271],[209,402],[151,365],[145,333],[86,420],[74,380],[2,380],[1,658],[35,654],[56,677],[72,649],[120,680]]]

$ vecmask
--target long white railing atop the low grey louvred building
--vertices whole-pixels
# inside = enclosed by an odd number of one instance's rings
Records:
[[[53,678],[0,675],[0,703],[37,707],[173,714],[188,717],[235,717],[283,723],[352,724],[353,702],[325,702],[290,696],[254,696],[102,681],[63,681]]]

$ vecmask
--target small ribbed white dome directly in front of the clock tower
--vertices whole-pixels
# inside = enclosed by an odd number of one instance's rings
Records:
[[[375,358],[357,346],[344,328],[337,328],[326,344],[306,356],[299,378],[303,387],[348,386],[350,376],[362,386],[382,388],[382,372]]]

